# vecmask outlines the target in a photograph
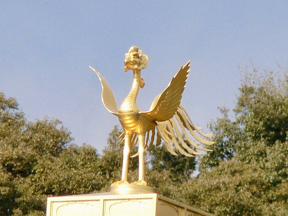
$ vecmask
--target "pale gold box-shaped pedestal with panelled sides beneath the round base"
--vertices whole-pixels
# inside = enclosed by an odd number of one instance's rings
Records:
[[[194,216],[211,215],[157,193],[48,197],[47,216]]]

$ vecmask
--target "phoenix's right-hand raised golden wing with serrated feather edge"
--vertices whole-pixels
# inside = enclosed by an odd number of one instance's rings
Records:
[[[180,68],[178,73],[172,78],[167,88],[154,99],[150,111],[139,112],[142,115],[148,115],[157,122],[166,121],[172,118],[181,102],[182,93],[188,77],[190,61]]]

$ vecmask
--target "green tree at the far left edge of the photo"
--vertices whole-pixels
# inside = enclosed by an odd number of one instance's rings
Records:
[[[71,141],[60,125],[58,120],[27,121],[16,100],[0,93],[0,212],[4,215],[43,214],[45,197],[35,191],[29,177],[43,157],[59,155]]]

